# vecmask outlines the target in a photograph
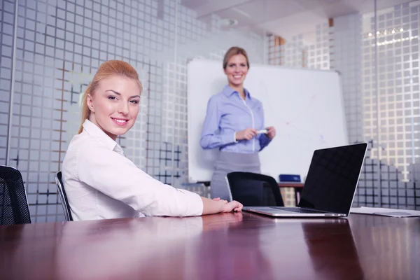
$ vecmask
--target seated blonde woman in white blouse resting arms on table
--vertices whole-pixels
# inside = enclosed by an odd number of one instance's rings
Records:
[[[62,165],[73,220],[241,211],[239,202],[209,200],[165,185],[125,158],[116,138],[136,122],[141,90],[137,71],[118,60],[99,66],[87,87],[83,123]]]

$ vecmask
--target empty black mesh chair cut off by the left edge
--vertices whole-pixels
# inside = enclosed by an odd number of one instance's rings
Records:
[[[13,167],[0,166],[0,225],[31,223],[22,175]]]

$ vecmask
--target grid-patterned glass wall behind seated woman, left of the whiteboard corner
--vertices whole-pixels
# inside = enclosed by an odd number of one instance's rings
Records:
[[[118,139],[127,157],[155,179],[208,195],[185,184],[187,62],[244,45],[260,63],[262,36],[225,30],[216,15],[197,20],[179,0],[5,0],[0,8],[0,160],[22,173],[32,221],[64,220],[54,176],[80,125],[80,97],[108,59],[132,64],[144,85],[137,124]]]

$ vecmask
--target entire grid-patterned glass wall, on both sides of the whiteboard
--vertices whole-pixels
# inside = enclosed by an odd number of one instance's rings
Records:
[[[339,71],[349,141],[370,143],[354,204],[419,209],[418,17],[411,1],[325,19],[308,31],[314,40],[285,41],[225,29],[179,0],[3,0],[0,161],[22,172],[33,221],[64,220],[54,176],[80,125],[81,93],[101,62],[123,59],[144,85],[137,124],[118,139],[126,155],[164,183],[208,195],[186,185],[186,65],[243,45],[251,63]]]

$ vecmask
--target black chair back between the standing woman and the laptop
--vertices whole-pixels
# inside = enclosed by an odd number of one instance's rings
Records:
[[[273,177],[250,172],[231,172],[227,177],[232,200],[244,206],[284,206]]]

